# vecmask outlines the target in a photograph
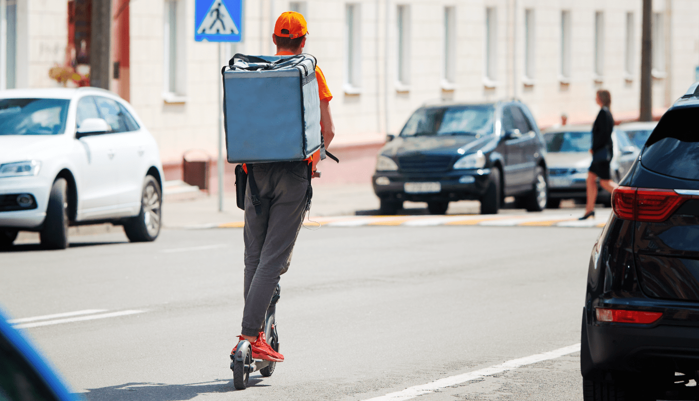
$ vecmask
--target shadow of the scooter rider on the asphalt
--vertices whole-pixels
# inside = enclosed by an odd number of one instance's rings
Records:
[[[248,387],[265,387],[261,379],[250,377]],[[229,393],[236,391],[233,379],[216,379],[203,383],[162,384],[162,383],[127,383],[119,386],[87,388],[89,393],[77,394],[88,401],[185,401],[192,400],[199,394]]]

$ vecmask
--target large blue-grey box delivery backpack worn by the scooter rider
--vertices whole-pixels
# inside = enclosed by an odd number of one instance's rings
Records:
[[[303,161],[317,150],[326,155],[320,133],[320,101],[315,57],[246,56],[236,54],[221,70],[224,88],[224,128],[229,163]],[[310,207],[312,169],[308,168]],[[261,214],[259,191],[252,169],[236,166],[238,207],[245,210],[245,184]]]

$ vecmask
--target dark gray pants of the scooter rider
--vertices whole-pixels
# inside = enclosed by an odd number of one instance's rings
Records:
[[[262,214],[255,213],[250,182],[245,191],[245,309],[243,335],[257,336],[280,275],[289,270],[291,251],[303,223],[308,163],[249,163],[259,189]],[[250,181],[250,180],[248,180]]]

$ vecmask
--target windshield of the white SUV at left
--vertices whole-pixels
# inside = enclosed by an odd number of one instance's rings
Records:
[[[56,135],[66,129],[66,99],[0,99],[0,135]]]

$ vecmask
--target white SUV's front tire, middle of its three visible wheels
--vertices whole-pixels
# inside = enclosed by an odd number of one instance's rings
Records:
[[[53,182],[39,240],[44,249],[68,247],[68,182],[64,178]]]

